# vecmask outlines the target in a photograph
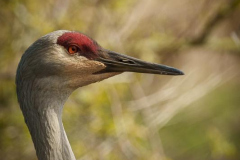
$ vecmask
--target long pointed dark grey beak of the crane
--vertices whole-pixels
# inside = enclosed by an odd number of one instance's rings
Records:
[[[145,62],[137,58],[133,58],[112,51],[104,51],[103,55],[98,57],[96,60],[102,62],[107,66],[104,70],[101,70],[97,73],[138,72],[161,75],[184,75],[182,71],[176,68],[156,63]]]

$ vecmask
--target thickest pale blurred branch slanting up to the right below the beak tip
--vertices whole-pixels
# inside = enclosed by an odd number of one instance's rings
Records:
[[[233,79],[238,73],[229,74],[229,70],[226,70],[222,74],[210,75],[204,82],[198,84],[196,87],[188,90],[185,93],[179,93],[179,97],[175,100],[171,100],[165,105],[161,106],[160,114],[153,114],[151,119],[151,125],[157,125],[159,128],[163,127],[169,122],[181,109],[188,107],[193,102],[199,100],[209,92],[219,87],[223,83]],[[223,77],[227,77],[223,79]],[[174,107],[173,107],[174,106]]]

